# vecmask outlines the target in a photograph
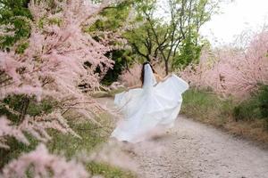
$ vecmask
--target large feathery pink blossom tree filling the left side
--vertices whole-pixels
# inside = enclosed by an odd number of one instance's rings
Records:
[[[93,119],[95,113],[102,109],[90,93],[101,87],[100,79],[107,69],[113,68],[113,61],[105,54],[120,46],[109,44],[109,36],[102,36],[96,41],[85,33],[84,28],[92,25],[99,18],[98,13],[111,3],[108,0],[101,4],[84,0],[54,0],[52,8],[47,1],[30,1],[33,20],[28,20],[31,28],[28,48],[24,53],[16,53],[17,45],[14,45],[9,52],[0,52],[0,104],[20,118],[15,124],[9,117],[0,117],[1,148],[9,148],[6,139],[10,136],[29,144],[25,132],[40,142],[46,142],[50,139],[47,128],[79,137],[67,124],[64,118],[66,111],[75,109],[78,115]],[[4,28],[1,28],[0,35],[12,35],[6,34]],[[125,43],[118,33],[114,34],[113,40]],[[86,86],[83,90],[81,84]],[[4,103],[4,98],[14,95],[24,98],[21,111]],[[55,101],[52,112],[27,115],[30,101],[43,100]],[[54,177],[88,176],[81,166],[49,155],[45,146],[4,166],[3,175],[23,177],[31,165],[36,166],[33,173],[37,176],[46,177],[46,171],[53,171]],[[55,169],[56,165],[61,165],[60,169]],[[73,171],[68,176],[63,174],[70,169]]]

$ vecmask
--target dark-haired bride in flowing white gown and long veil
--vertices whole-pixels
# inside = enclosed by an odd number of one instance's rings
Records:
[[[188,83],[174,74],[159,77],[149,62],[143,64],[140,78],[141,87],[115,95],[114,103],[124,120],[111,136],[119,141],[142,142],[156,127],[172,127],[180,111],[181,93],[188,89]]]

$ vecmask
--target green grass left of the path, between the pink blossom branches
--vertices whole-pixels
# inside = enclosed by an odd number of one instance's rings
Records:
[[[108,116],[102,115],[102,117]],[[107,141],[109,133],[103,134],[101,127],[93,125],[89,121],[84,121],[80,124],[72,121],[70,124],[72,129],[77,134],[80,134],[82,139],[54,132],[53,140],[48,143],[48,149],[51,152],[63,152],[65,157],[71,158],[81,151],[94,151],[98,145]],[[119,167],[109,166],[105,163],[91,162],[86,167],[91,174],[100,174],[105,178],[134,177],[128,171],[121,170]]]

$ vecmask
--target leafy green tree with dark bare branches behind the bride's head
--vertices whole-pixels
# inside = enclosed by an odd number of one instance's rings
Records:
[[[202,46],[199,29],[218,8],[218,2],[212,0],[167,0],[167,3],[168,20],[155,17],[155,0],[137,4],[136,9],[146,22],[139,31],[130,35],[135,52],[147,61],[161,59],[165,64],[166,74],[170,64],[178,67],[198,57]],[[189,53],[194,54],[192,56]],[[187,60],[182,57],[187,57]]]

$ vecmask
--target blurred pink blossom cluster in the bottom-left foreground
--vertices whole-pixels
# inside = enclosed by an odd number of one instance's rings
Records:
[[[30,172],[29,172],[30,170]],[[29,172],[32,177],[55,177],[55,178],[86,178],[89,177],[84,166],[74,159],[49,154],[44,144],[29,153],[23,154],[20,158],[11,161],[4,166],[3,178],[22,178]]]

